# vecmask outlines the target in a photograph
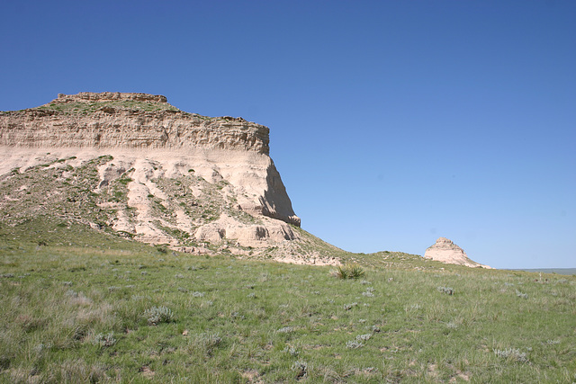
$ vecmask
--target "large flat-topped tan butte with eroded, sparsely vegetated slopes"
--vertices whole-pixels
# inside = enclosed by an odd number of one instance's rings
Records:
[[[62,205],[67,217],[182,250],[293,242],[301,236],[288,224],[300,219],[268,156],[268,132],[179,111],[161,95],[59,94],[0,112],[0,182],[10,185],[0,209],[18,216],[72,200],[77,207]],[[39,174],[53,195],[40,192],[38,207],[24,208],[19,199],[38,190]]]

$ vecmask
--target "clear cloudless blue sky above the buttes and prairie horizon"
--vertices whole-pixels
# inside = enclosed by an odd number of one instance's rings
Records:
[[[0,110],[143,92],[267,125],[346,250],[576,267],[575,1],[24,0],[0,44]]]

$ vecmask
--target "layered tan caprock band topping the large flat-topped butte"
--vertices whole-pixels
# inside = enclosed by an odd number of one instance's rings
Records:
[[[182,112],[151,94],[58,94],[0,113],[0,145],[135,149],[225,149],[268,155],[269,129],[242,118]]]

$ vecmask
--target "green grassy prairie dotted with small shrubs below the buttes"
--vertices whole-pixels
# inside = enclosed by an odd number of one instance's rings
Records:
[[[365,275],[341,280],[41,238],[0,228],[2,382],[576,381],[572,276],[351,255]]]

